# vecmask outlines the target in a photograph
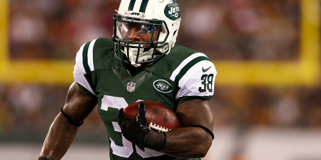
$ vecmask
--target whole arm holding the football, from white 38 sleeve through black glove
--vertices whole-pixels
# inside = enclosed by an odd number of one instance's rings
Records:
[[[213,115],[208,99],[214,93],[217,72],[203,53],[195,53],[187,59],[171,75],[171,80],[177,81],[180,87],[176,94],[176,113],[182,127],[167,132],[153,131],[145,122],[142,123],[144,116],[128,120],[122,109],[119,110],[117,122],[124,137],[140,149],[146,147],[174,157],[194,158],[204,157],[211,147],[214,138]],[[140,112],[144,115],[144,111]]]

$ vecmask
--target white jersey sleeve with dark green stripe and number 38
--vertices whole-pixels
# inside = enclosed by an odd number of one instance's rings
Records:
[[[171,75],[171,80],[177,81],[180,87],[176,100],[212,96],[216,74],[213,62],[204,53],[192,54]]]

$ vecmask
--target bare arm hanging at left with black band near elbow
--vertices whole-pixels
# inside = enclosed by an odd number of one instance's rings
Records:
[[[68,90],[63,111],[75,123],[81,123],[92,109],[97,100],[86,95],[76,82],[73,82]],[[44,140],[40,157],[48,159],[61,159],[72,143],[79,126],[71,124],[70,120],[59,112],[50,126]]]

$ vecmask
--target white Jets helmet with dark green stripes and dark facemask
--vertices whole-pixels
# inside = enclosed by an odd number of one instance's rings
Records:
[[[116,11],[113,41],[119,59],[137,67],[174,47],[181,23],[176,0],[121,0]]]

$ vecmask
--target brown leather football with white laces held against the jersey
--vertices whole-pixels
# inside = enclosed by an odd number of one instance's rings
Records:
[[[129,104],[124,109],[124,114],[128,119],[135,119],[137,115],[138,104],[144,102],[146,110],[146,120],[149,128],[157,131],[169,131],[181,127],[181,122],[176,113],[161,102],[152,100],[137,101]]]

